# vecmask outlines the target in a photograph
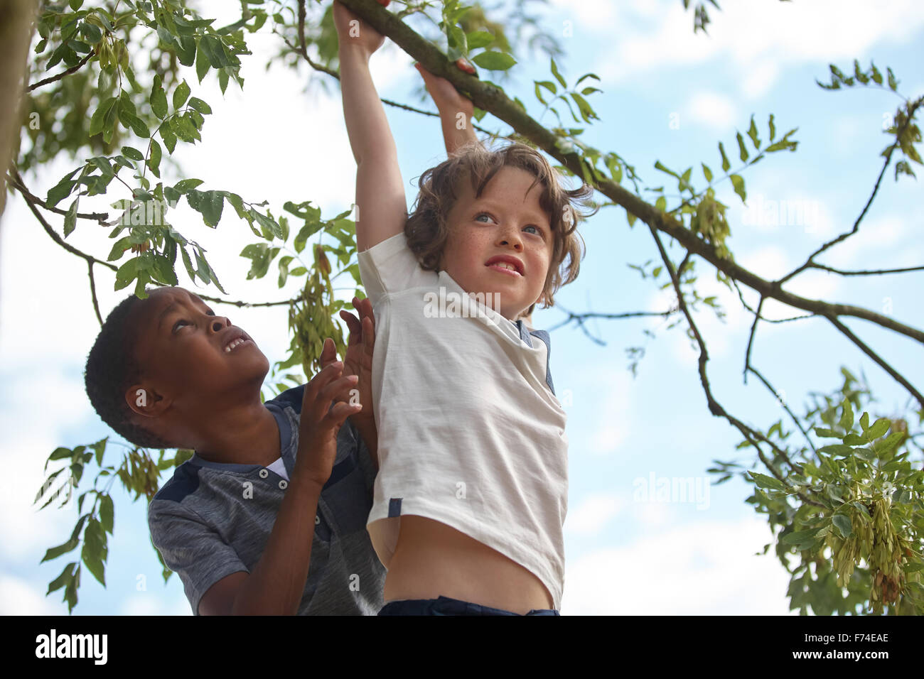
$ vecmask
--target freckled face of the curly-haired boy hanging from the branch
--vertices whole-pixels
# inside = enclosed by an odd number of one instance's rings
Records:
[[[495,310],[510,320],[540,301],[552,257],[549,215],[539,204],[542,187],[537,182],[529,188],[535,178],[502,167],[476,198],[465,177],[446,216],[441,269],[466,292],[496,293]]]

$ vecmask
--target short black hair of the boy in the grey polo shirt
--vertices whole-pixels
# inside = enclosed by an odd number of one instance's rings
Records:
[[[146,289],[146,292],[151,291]],[[140,298],[132,293],[106,316],[87,356],[83,379],[91,405],[119,436],[142,448],[176,448],[175,444],[132,422],[133,412],[125,401],[126,390],[142,375],[135,358],[139,330],[137,324],[128,322],[131,311],[140,303]]]

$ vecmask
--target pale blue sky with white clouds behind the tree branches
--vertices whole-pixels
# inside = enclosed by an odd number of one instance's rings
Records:
[[[798,205],[808,208],[810,218],[791,225],[755,224],[727,182],[717,187],[719,199],[729,206],[729,245],[736,261],[764,277],[779,276],[853,224],[881,167],[879,153],[887,143],[883,116],[899,103],[885,91],[823,91],[815,79],[827,81],[829,63],[849,70],[855,57],[863,66],[871,58],[883,72],[893,68],[901,80],[899,91],[919,95],[924,74],[914,45],[924,38],[924,7],[910,0],[875,8],[858,0],[729,1],[711,15],[710,37],[693,34],[692,16],[679,0],[554,0],[542,21],[549,30],[562,31],[566,56],[559,65],[569,83],[589,71],[601,76],[602,93],[590,99],[601,120],[584,139],[602,151],[618,152],[648,186],[672,189],[665,181],[669,177],[653,169],[656,160],[680,170],[693,165],[694,181],[703,186],[699,162],[717,170],[716,144],[723,140],[734,163],[736,129],[744,132],[752,114],[761,139],[767,137],[771,113],[777,130],[799,128],[795,154],[773,154],[744,176],[749,203]],[[179,147],[185,176],[201,177],[203,188],[235,191],[253,202],[269,200],[277,213],[285,200],[314,200],[324,215],[346,209],[353,198],[355,166],[339,91],[306,93],[304,70],[297,74],[274,67],[264,73],[262,55],[274,46],[266,31],[249,38],[249,45],[255,55],[245,61],[243,94],[232,85],[223,98],[211,77],[198,86],[191,70],[187,76],[193,94],[210,103],[214,113],[206,119],[200,144]],[[419,75],[394,45],[386,44],[373,57],[373,76],[383,97],[412,103]],[[532,80],[549,78],[545,59],[521,55],[505,86],[538,115],[541,105],[532,94]],[[411,179],[444,154],[439,126],[434,119],[391,108],[386,113],[410,204],[416,195]],[[551,124],[551,114],[542,122]],[[490,116],[482,123],[507,131]],[[29,177],[32,192],[45,195],[77,164],[57,163]],[[116,198],[121,196],[110,200]],[[853,269],[919,265],[924,247],[914,234],[921,198],[918,182],[905,177],[896,184],[890,172],[859,234],[820,260]],[[103,202],[97,207],[105,209]],[[228,297],[262,301],[293,293],[293,285],[280,290],[272,275],[245,280],[249,261],[237,253],[255,239],[230,214],[218,230],[201,224],[198,213],[185,204],[170,219],[209,249]],[[669,291],[641,280],[626,266],[657,259],[643,224],[629,228],[625,212],[610,207],[581,231],[587,256],[577,281],[556,295],[560,305],[601,312],[670,306]],[[98,256],[111,245],[104,230],[89,224],[81,224],[68,241]],[[30,253],[28,259],[23,252]],[[679,259],[679,250],[673,252]],[[713,393],[737,417],[766,429],[784,414],[754,379],[742,383],[749,314],[715,281],[709,265],[699,261],[698,270],[700,294],[718,296],[727,313],[724,322],[708,311],[697,316],[710,347]],[[192,289],[185,274],[179,274],[180,285]],[[16,470],[6,475],[2,493],[0,612],[63,613],[67,606],[59,592],[47,599],[43,594],[67,557],[50,564],[39,561],[45,549],[67,540],[78,514],[73,506],[36,512],[31,500],[43,481],[44,460],[56,446],[91,443],[109,433],[83,391],[83,364],[98,324],[84,264],[55,246],[16,197],[0,230],[0,276],[0,455]],[[919,325],[922,287],[917,273],[866,280],[814,272],[787,289]],[[111,277],[104,274],[98,288],[103,314],[124,296],[112,291]],[[216,294],[211,288],[202,292]],[[756,296],[748,302],[755,303]],[[271,362],[286,356],[285,310],[224,309],[216,311],[253,335]],[[764,310],[772,318],[798,313],[776,304]],[[556,309],[539,310],[533,317],[538,328],[562,320]],[[922,382],[919,346],[862,321],[845,322],[912,383]],[[711,460],[749,462],[750,457],[735,450],[740,441],[736,430],[709,414],[697,353],[683,329],[667,331],[660,319],[593,321],[589,327],[605,346],[571,327],[552,333],[555,387],[560,396],[570,396],[570,405],[565,404],[570,491],[562,612],[786,613],[788,576],[772,551],[755,555],[772,536],[766,521],[743,502],[748,487],[737,479],[709,485],[712,477],[705,470]],[[646,328],[655,339],[643,335]],[[646,347],[635,379],[626,370],[627,346]],[[842,365],[867,376],[878,397],[877,414],[894,414],[907,400],[898,385],[820,319],[761,324],[753,357],[797,412],[803,411],[808,392],[840,385]],[[690,479],[701,494],[692,502],[677,497],[646,502],[637,491],[652,477],[656,483]],[[178,577],[164,587],[159,575],[145,502],[132,503],[120,493],[115,501],[108,586],[85,573],[75,613],[188,614]]]

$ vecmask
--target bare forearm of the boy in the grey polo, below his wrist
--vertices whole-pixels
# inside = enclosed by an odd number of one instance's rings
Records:
[[[305,591],[322,486],[298,473],[298,463],[260,561],[237,592],[232,614],[295,615]]]

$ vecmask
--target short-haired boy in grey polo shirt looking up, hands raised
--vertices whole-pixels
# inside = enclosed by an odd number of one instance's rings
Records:
[[[128,441],[196,450],[148,510],[152,542],[192,611],[378,612],[385,570],[365,529],[376,432],[371,408],[346,402],[359,389],[359,403],[371,403],[368,300],[354,299],[361,321],[341,312],[345,363],[325,341],[309,384],[261,404],[269,362],[247,333],[183,288],[149,294],[107,317],[87,393]]]

